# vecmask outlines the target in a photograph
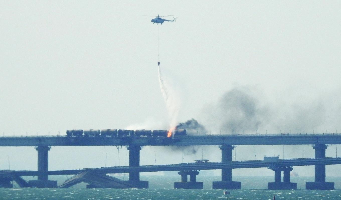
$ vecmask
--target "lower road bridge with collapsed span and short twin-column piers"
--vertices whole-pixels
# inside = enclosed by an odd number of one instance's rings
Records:
[[[264,160],[257,161],[231,161],[231,162],[210,162],[210,163],[180,163],[173,165],[145,165],[145,166],[120,166],[120,167],[101,167],[101,168],[84,168],[77,170],[56,170],[56,171],[0,171],[0,174],[8,174],[4,177],[16,177],[16,180],[22,180],[21,176],[48,176],[48,175],[71,175],[77,174],[75,177],[66,181],[64,185],[68,187],[72,184],[79,183],[84,181],[84,176],[87,176],[85,179],[87,183],[89,183],[89,187],[95,187],[95,185],[100,185],[105,187],[105,183],[108,183],[108,187],[123,187],[124,185],[131,184],[131,181],[125,183],[124,181],[120,181],[116,178],[108,177],[104,181],[103,184],[99,182],[99,180],[103,179],[103,175],[107,173],[139,173],[139,172],[152,172],[152,171],[179,171],[179,175],[181,175],[181,182],[176,182],[175,188],[202,188],[202,182],[196,182],[196,176],[199,174],[199,170],[211,170],[211,169],[237,169],[237,168],[260,168],[267,167],[275,171],[275,182],[268,183],[269,189],[296,189],[296,183],[290,182],[290,171],[293,166],[308,166],[308,165],[335,165],[341,164],[340,157],[327,157],[327,158],[307,158],[307,159],[282,159],[278,160],[278,162],[266,162]],[[283,171],[283,182],[281,182],[281,171]],[[91,175],[92,174],[92,175]],[[82,176],[80,176],[82,175]],[[89,176],[91,175],[91,176]],[[190,182],[187,181],[187,176],[190,176]],[[80,176],[80,178],[78,178]],[[93,177],[93,180],[92,178]],[[101,179],[99,179],[101,178]],[[74,179],[74,180],[73,180]],[[98,180],[99,179],[99,180]],[[110,179],[113,179],[110,181]],[[14,180],[14,179],[13,179]],[[70,181],[72,180],[72,181]],[[112,183],[111,183],[112,182]],[[230,181],[231,182],[231,181]],[[146,182],[144,182],[146,184]],[[240,183],[240,182],[236,182]],[[235,184],[236,184],[235,183]],[[119,184],[119,185],[118,185]],[[221,184],[220,181],[214,181],[212,186],[219,186]],[[24,184],[25,185],[25,184]],[[31,185],[31,183],[27,183],[27,185]],[[134,184],[131,184],[134,186]],[[139,185],[138,187],[141,187]],[[146,187],[146,186],[144,186]]]

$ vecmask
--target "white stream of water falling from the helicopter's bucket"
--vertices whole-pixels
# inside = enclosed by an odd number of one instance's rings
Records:
[[[165,100],[170,123],[169,128],[175,127],[177,124],[177,118],[180,110],[179,97],[175,90],[167,83],[167,81],[162,77],[161,68],[158,67],[159,74],[159,84],[162,92],[163,99]]]

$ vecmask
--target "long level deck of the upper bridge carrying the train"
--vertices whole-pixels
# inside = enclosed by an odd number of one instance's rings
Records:
[[[195,135],[167,137],[0,137],[0,146],[189,146],[341,144],[341,134]]]

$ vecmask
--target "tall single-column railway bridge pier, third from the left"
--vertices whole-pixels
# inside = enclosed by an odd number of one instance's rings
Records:
[[[232,145],[222,145],[221,149],[221,162],[232,161]],[[240,182],[232,181],[232,169],[226,168],[221,170],[221,181],[212,182],[213,189],[240,189]]]

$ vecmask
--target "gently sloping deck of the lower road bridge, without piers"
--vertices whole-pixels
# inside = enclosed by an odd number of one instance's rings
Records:
[[[285,167],[285,166],[307,166],[307,165],[335,165],[341,164],[341,157],[327,157],[321,159],[284,159],[277,163],[266,163],[258,161],[233,161],[233,162],[211,162],[211,163],[181,163],[175,165],[145,165],[139,167],[101,167],[85,168],[76,170],[57,170],[57,171],[13,171],[17,176],[38,176],[38,175],[69,175],[77,174],[81,171],[89,170],[96,173],[128,173],[128,172],[152,172],[152,171],[180,171],[180,170],[208,170],[223,168],[261,168],[261,167]]]

